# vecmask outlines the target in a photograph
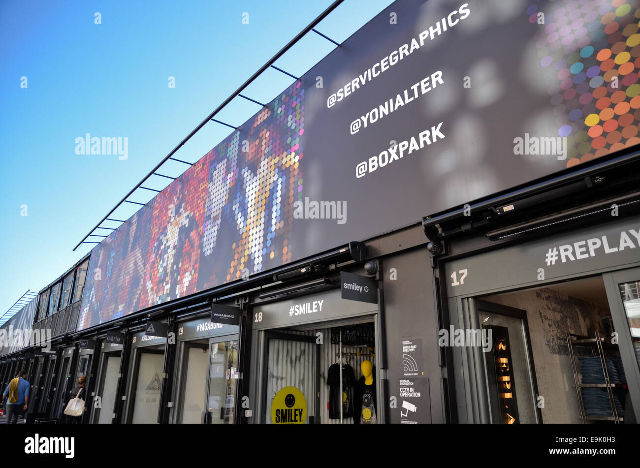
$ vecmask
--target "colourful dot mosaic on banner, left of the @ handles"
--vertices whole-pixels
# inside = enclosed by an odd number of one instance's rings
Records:
[[[292,261],[305,88],[292,84],[94,247],[77,329]]]

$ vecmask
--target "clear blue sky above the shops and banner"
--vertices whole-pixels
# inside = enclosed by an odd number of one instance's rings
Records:
[[[90,251],[93,244],[72,249],[331,3],[0,2],[0,314]],[[342,42],[390,3],[346,0],[317,29]],[[95,24],[97,12],[101,24]],[[300,76],[334,47],[311,32],[275,65]],[[244,94],[269,102],[292,81],[271,68]],[[258,110],[236,98],[217,118],[240,125]],[[195,162],[230,130],[210,122],[175,157]],[[87,133],[127,137],[127,159],[77,155],[75,140]],[[187,167],[170,161],[162,173],[177,176]],[[152,176],[145,185],[163,189],[168,182]],[[139,190],[130,199],[146,203],[153,194]],[[127,219],[139,208],[124,205],[112,217]]]

